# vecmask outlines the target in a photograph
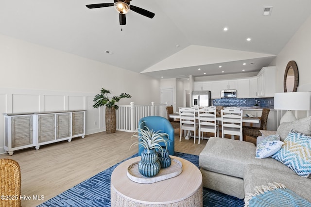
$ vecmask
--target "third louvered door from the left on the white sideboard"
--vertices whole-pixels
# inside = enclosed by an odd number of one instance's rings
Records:
[[[71,137],[71,114],[56,114],[56,139]]]

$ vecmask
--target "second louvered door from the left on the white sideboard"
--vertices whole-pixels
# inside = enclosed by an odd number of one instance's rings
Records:
[[[55,140],[55,115],[38,115],[39,143]]]

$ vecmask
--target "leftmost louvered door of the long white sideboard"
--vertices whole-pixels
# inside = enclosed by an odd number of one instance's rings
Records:
[[[12,117],[12,148],[33,143],[33,116]]]

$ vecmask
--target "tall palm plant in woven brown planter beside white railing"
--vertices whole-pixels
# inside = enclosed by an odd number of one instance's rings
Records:
[[[115,133],[116,132],[116,110],[119,109],[119,106],[116,105],[121,98],[130,98],[132,97],[129,94],[122,93],[119,96],[108,97],[110,91],[102,88],[101,94],[97,94],[93,99],[93,108],[99,108],[101,106],[106,106],[105,109],[105,124],[106,124],[106,133]]]

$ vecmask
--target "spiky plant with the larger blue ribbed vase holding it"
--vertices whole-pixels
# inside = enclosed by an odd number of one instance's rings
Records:
[[[139,147],[144,148],[144,151],[141,153],[141,160],[138,163],[139,173],[147,177],[152,177],[158,174],[161,168],[158,152],[163,154],[164,149],[167,149],[169,135],[164,132],[154,131],[147,126],[144,126],[144,128],[139,127],[131,138],[138,138],[138,141],[133,143],[131,147],[138,145]],[[159,143],[164,143],[165,148]],[[171,158],[169,159],[171,163]]]

